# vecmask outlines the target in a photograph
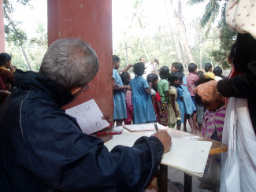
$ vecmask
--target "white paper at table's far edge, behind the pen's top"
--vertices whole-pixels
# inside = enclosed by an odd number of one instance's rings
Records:
[[[157,123],[158,124],[158,123]],[[124,128],[128,129],[128,131],[154,131],[155,127],[154,124],[124,124]],[[158,124],[158,129],[168,129],[168,127],[165,127],[161,124]]]

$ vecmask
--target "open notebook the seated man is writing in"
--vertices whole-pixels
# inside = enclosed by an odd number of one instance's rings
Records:
[[[139,138],[131,132],[124,132],[109,142],[105,146],[110,150],[114,146],[133,146],[133,143]],[[173,145],[168,153],[165,153],[161,159],[161,164],[180,169],[191,175],[202,177],[206,168],[206,161],[209,156],[212,142],[194,141],[182,138],[172,138]]]

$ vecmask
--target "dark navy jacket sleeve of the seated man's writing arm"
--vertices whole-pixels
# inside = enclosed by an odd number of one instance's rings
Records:
[[[32,172],[55,189],[142,191],[161,162],[164,147],[154,136],[139,138],[132,147],[116,146],[109,152],[102,139],[76,131],[76,123],[61,115],[35,124],[39,127],[36,133],[24,133],[30,142]],[[40,135],[39,139],[35,134]]]

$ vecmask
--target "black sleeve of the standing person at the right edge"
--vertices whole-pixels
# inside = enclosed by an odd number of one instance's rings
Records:
[[[223,79],[217,83],[217,90],[226,98],[256,97],[256,61],[250,62],[247,71],[232,79]]]

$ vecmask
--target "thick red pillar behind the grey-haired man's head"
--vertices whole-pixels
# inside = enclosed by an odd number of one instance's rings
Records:
[[[90,90],[65,109],[94,98],[103,114],[113,119],[111,0],[48,0],[48,44],[75,37],[91,44],[98,54],[99,71]]]

